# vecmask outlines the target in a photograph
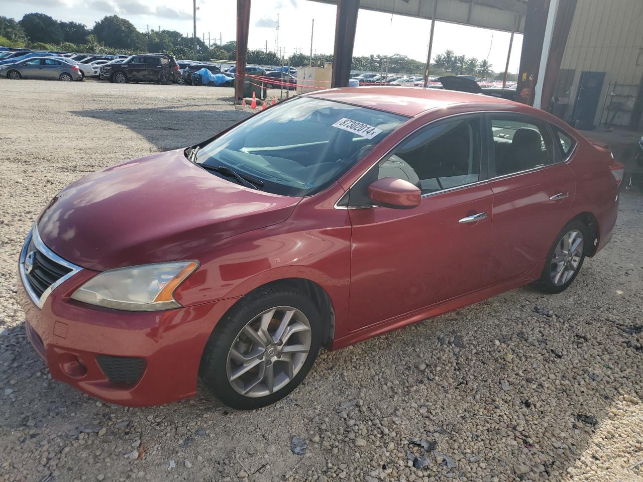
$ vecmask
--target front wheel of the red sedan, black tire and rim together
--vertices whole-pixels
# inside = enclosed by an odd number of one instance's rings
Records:
[[[264,407],[302,382],[317,358],[322,334],[320,312],[305,294],[287,287],[255,290],[213,330],[199,377],[214,397],[234,409]]]

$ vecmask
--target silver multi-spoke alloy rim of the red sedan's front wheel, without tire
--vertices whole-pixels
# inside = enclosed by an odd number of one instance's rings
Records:
[[[251,319],[228,352],[228,381],[245,397],[266,397],[284,388],[311,350],[311,324],[293,307],[275,307]]]

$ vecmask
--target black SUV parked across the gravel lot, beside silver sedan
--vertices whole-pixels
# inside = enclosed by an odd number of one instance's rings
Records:
[[[103,74],[109,82],[157,82],[169,84],[180,76],[179,64],[166,53],[143,53],[132,55],[122,64],[105,64]]]

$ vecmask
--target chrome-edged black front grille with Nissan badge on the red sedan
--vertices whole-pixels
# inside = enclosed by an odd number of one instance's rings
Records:
[[[24,287],[32,298],[33,303],[42,308],[47,298],[44,293],[50,288],[50,291],[55,289],[80,269],[80,267],[53,253],[42,242],[37,228],[33,227],[32,232],[24,243],[19,265]]]

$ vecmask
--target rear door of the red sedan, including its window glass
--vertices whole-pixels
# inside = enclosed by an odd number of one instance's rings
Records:
[[[485,285],[525,276],[569,220],[575,176],[554,147],[545,121],[487,114],[493,178],[493,228]]]

